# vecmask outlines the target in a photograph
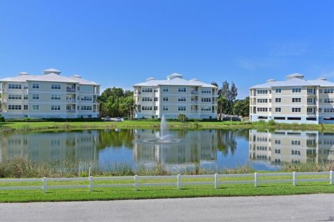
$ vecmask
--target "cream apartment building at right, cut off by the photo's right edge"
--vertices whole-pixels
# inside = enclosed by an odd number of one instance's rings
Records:
[[[284,81],[250,87],[250,121],[334,123],[334,83],[303,78],[290,74]]]

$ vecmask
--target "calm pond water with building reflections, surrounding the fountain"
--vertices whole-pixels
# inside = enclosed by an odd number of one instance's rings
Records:
[[[67,133],[0,135],[0,161],[15,156],[29,160],[81,160],[100,166],[111,163],[152,166],[230,167],[246,163],[276,170],[283,162],[334,160],[334,133],[317,131],[169,130],[173,144],[152,144],[158,130],[80,130]]]

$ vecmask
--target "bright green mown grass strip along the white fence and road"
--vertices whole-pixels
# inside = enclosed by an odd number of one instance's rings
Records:
[[[318,176],[321,177],[321,176]],[[284,176],[271,177],[268,179],[282,179]],[[291,177],[290,177],[291,178]],[[308,176],[303,176],[308,178]],[[315,176],[312,176],[315,178]],[[251,178],[230,178],[229,180],[249,180]],[[212,181],[211,178],[182,179],[182,181]],[[141,182],[176,182],[173,179],[166,180],[142,180]],[[129,180],[118,180],[117,183],[127,183]],[[131,181],[130,181],[131,182]],[[94,184],[105,184],[96,181]],[[88,182],[48,182],[48,185],[88,185]],[[40,182],[17,182],[1,183],[1,186],[18,185],[41,185]],[[280,184],[260,184],[254,187],[252,184],[244,185],[219,185],[214,189],[213,185],[189,185],[182,186],[178,190],[176,185],[170,187],[113,187],[88,189],[48,189],[47,193],[38,190],[13,190],[0,191],[0,202],[38,202],[38,201],[77,201],[77,200],[127,200],[127,199],[149,199],[149,198],[191,198],[205,196],[275,196],[292,194],[328,194],[334,193],[334,185],[328,182],[300,182],[293,186],[292,182]]]

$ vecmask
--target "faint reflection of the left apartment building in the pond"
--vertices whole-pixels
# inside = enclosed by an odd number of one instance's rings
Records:
[[[79,133],[29,133],[1,135],[1,160],[25,156],[43,160],[98,160],[97,130]]]

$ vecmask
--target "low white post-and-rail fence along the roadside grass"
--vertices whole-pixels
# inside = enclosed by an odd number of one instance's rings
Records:
[[[287,179],[273,179],[264,180],[264,177],[291,177]],[[298,176],[304,176],[304,178],[298,178]],[[305,176],[323,176],[323,178],[305,178]],[[325,178],[324,176],[327,176]],[[212,181],[182,181],[182,179],[200,179],[200,178],[212,178]],[[220,180],[224,178],[224,180]],[[250,178],[251,180],[228,180],[228,178]],[[95,181],[116,181],[116,180],[129,180],[129,183],[106,183],[106,184],[94,184]],[[175,180],[175,182],[140,182],[138,180]],[[186,185],[212,185],[215,189],[218,189],[219,185],[228,184],[254,184],[257,187],[260,184],[265,183],[283,183],[292,182],[292,185],[296,186],[299,182],[329,182],[333,185],[334,173],[333,171],[326,172],[292,172],[292,173],[244,173],[244,174],[212,174],[212,175],[180,175],[177,176],[120,176],[120,177],[93,177],[88,178],[29,178],[29,179],[0,179],[0,190],[13,190],[13,189],[42,189],[46,192],[47,189],[69,189],[69,188],[87,188],[93,191],[94,188],[101,187],[134,187],[134,190],[138,190],[138,187],[157,187],[157,186],[175,186],[177,189],[181,189]],[[48,185],[47,182],[61,182],[61,181],[86,181],[88,185]],[[16,187],[3,187],[1,183],[4,182],[41,182],[40,186],[16,186]]]

